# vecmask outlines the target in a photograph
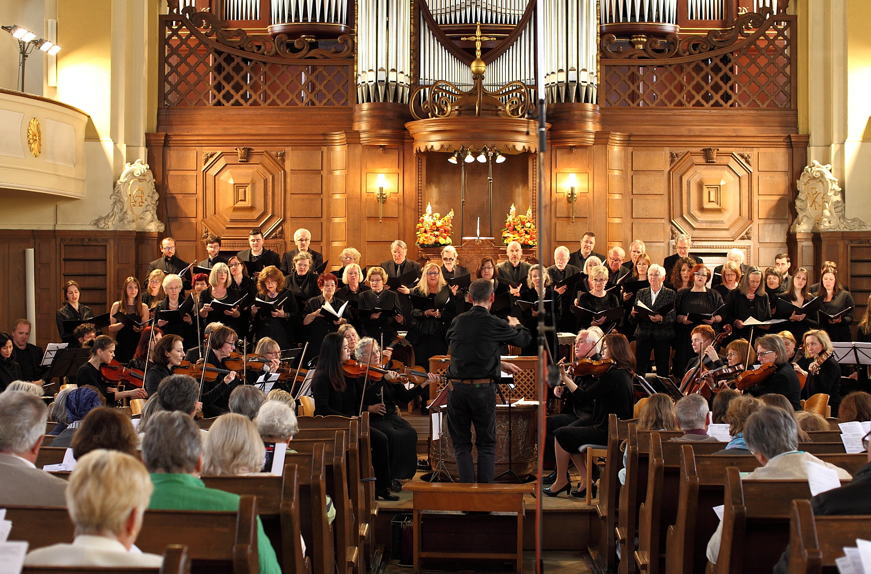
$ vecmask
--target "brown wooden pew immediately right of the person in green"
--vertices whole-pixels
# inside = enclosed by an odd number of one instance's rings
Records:
[[[272,541],[281,571],[309,574],[311,564],[300,543],[299,477],[293,463],[285,463],[282,476],[203,476],[210,489],[240,496],[256,496],[263,530]]]

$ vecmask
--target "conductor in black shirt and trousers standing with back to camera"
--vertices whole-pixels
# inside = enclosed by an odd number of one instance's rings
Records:
[[[454,443],[456,469],[461,483],[474,483],[472,429],[478,448],[478,483],[492,483],[496,474],[496,382],[499,348],[503,344],[525,347],[532,335],[516,317],[508,321],[490,314],[493,284],[479,279],[469,286],[473,307],[451,322],[446,339],[450,345],[448,368],[448,432]],[[520,371],[503,363],[506,372]]]

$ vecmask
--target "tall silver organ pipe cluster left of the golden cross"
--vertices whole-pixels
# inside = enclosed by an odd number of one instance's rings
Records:
[[[347,0],[342,3],[347,6]],[[408,0],[359,0],[357,30],[357,101],[407,104],[411,72]]]

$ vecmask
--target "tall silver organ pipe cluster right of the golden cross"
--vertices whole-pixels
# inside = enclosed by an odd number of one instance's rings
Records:
[[[613,5],[615,2],[603,0],[603,16],[605,3]],[[596,103],[596,29],[596,3],[586,0],[544,1],[547,41],[544,86],[549,104]]]

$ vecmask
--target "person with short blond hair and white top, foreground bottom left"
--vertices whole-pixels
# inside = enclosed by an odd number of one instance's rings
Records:
[[[148,471],[136,458],[92,450],[78,458],[66,491],[76,538],[30,551],[24,565],[159,568],[163,557],[132,551],[151,496]]]

